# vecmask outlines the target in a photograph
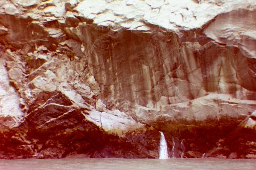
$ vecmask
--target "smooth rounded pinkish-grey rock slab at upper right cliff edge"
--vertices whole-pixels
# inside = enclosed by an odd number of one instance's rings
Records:
[[[244,20],[246,18],[246,20]],[[204,33],[216,42],[234,45],[248,58],[256,57],[256,11],[243,9],[218,15]]]

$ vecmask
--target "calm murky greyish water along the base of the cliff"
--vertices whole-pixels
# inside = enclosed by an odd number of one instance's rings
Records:
[[[255,170],[256,159],[16,159],[0,170]]]

